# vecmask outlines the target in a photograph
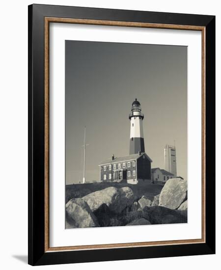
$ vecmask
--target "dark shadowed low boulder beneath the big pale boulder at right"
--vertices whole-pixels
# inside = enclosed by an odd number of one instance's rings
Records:
[[[171,210],[163,206],[145,207],[143,217],[148,219],[151,224],[171,224],[171,223],[186,223],[187,218],[177,210]]]

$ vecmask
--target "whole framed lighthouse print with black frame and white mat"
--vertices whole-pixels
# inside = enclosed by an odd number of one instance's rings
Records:
[[[215,16],[28,6],[28,263],[215,253]]]

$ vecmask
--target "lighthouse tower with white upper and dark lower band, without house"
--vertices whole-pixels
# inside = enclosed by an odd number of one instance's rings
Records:
[[[143,139],[143,113],[141,113],[141,106],[137,99],[132,103],[131,113],[129,119],[131,121],[131,135],[130,135],[130,155],[144,153],[144,139]]]

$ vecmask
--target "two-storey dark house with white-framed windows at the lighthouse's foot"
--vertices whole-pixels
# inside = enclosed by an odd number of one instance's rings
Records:
[[[99,164],[100,182],[151,183],[151,162],[146,153],[108,159]]]

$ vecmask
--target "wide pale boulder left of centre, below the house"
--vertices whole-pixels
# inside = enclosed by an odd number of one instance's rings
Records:
[[[119,214],[126,207],[130,207],[133,204],[134,193],[128,187],[121,189],[110,187],[92,192],[82,199],[87,202],[92,212],[96,211],[105,203],[111,212]]]

